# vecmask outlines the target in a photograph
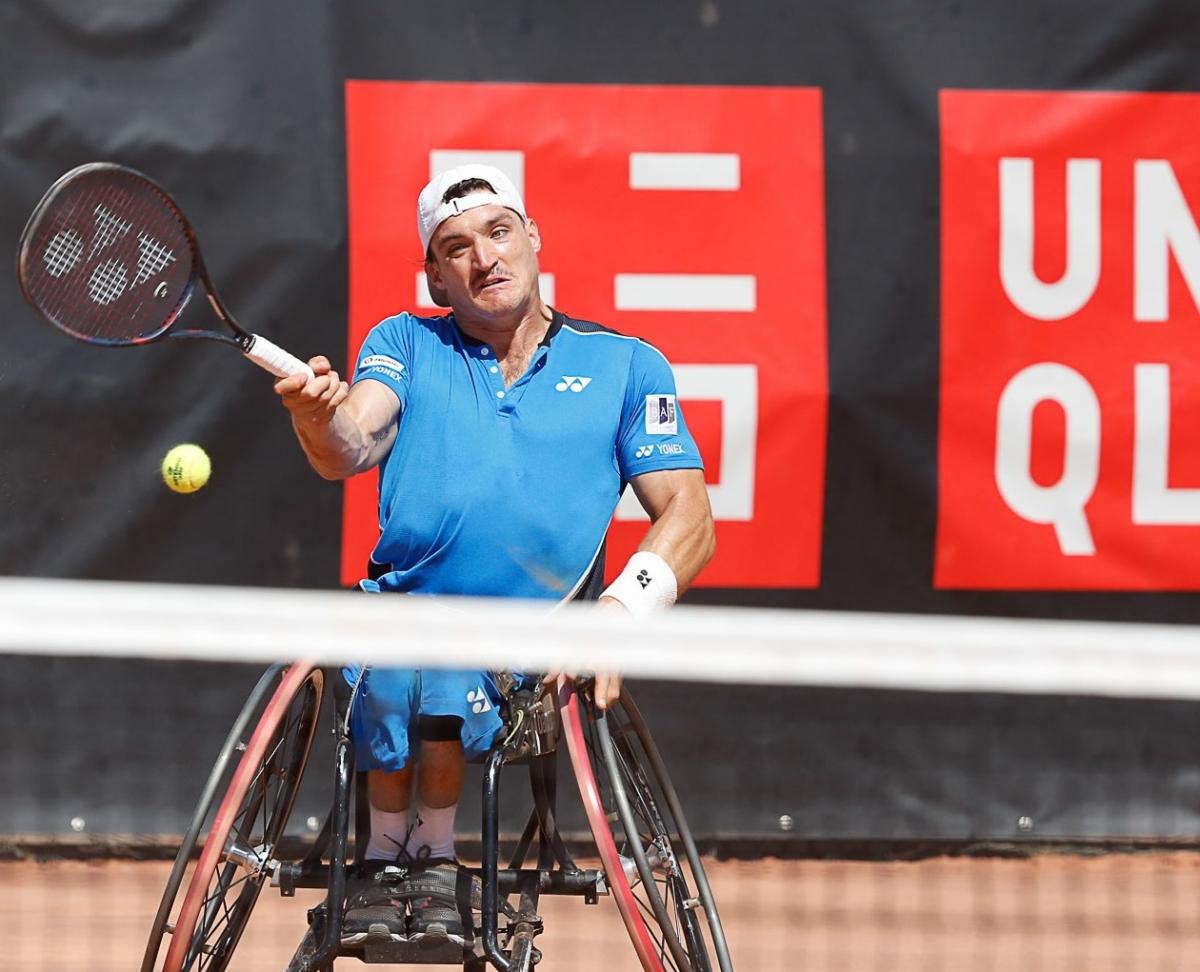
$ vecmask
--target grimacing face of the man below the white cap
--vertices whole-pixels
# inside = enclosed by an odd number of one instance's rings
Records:
[[[538,298],[541,236],[511,209],[484,205],[451,216],[430,240],[425,269],[460,317],[499,319]]]

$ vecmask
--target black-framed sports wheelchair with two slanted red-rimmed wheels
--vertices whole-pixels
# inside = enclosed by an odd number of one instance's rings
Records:
[[[674,788],[637,706],[622,692],[598,709],[590,684],[557,686],[500,673],[503,728],[484,761],[481,865],[463,868],[460,912],[466,944],[450,941],[346,944],[341,941],[352,806],[355,847],[366,846],[364,774],[354,772],[346,716],[336,704],[334,799],[322,834],[299,859],[284,859],[284,827],[320,721],[326,673],[276,665],[263,674],[230,730],[185,833],[146,944],[142,972],[227,968],[263,887],[284,896],[323,888],[287,972],[326,972],[336,959],[396,965],[461,965],[464,972],[528,972],[541,958],[544,894],[616,902],[646,972],[732,972],[716,905]],[[340,676],[331,676],[336,685]],[[580,868],[556,822],[556,749],[565,740],[602,869]],[[235,752],[241,752],[235,760]],[[524,763],[533,809],[506,866],[500,866],[499,780]],[[216,811],[210,815],[217,794]],[[208,836],[200,833],[208,827]],[[534,845],[536,844],[536,848]],[[180,890],[192,869],[180,900]],[[536,852],[534,853],[534,850]],[[530,862],[532,865],[530,865]],[[403,880],[403,869],[397,869]],[[515,904],[514,904],[515,899]],[[176,907],[178,902],[178,907]],[[166,958],[158,965],[166,944]]]

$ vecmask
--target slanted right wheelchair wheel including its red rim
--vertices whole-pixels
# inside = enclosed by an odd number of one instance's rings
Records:
[[[563,725],[605,875],[646,972],[732,972],[708,877],[628,690],[606,712],[566,689]]]

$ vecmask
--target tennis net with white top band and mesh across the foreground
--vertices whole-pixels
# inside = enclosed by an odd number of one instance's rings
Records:
[[[348,661],[624,672],[734,968],[1200,968],[1190,626],[685,605],[632,622],[582,606],[22,578],[0,580],[0,914],[14,968],[146,961],[214,760],[247,695],[277,684],[264,670],[298,659],[326,686]],[[332,695],[278,860],[300,860],[330,810]],[[599,874],[576,770],[564,752],[556,764],[564,847]],[[523,767],[500,776],[504,858],[532,806]],[[456,828],[475,866],[484,776],[469,769]],[[637,862],[623,859],[636,886]],[[643,967],[613,882],[595,887],[596,907],[540,898],[540,968]],[[323,899],[265,882],[228,967],[289,967]],[[686,919],[668,918],[686,937]],[[664,968],[686,967],[658,948]],[[196,967],[221,961],[202,950]]]

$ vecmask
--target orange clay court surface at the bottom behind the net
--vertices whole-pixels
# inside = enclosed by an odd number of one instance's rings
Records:
[[[742,972],[1200,970],[1195,853],[708,868]],[[0,968],[136,972],[168,870],[161,862],[0,864]],[[230,968],[283,970],[318,899],[264,890]],[[637,972],[610,900],[588,907],[544,898],[541,912],[540,968]]]

